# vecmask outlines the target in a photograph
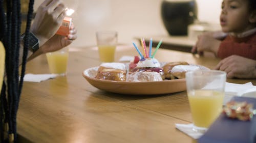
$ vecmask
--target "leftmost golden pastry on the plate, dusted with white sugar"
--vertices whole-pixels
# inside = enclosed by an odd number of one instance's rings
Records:
[[[95,78],[114,81],[126,81],[126,69],[122,63],[103,63]]]

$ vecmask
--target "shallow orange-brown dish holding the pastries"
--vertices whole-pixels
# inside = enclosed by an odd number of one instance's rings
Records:
[[[83,71],[82,76],[95,88],[103,91],[129,95],[157,95],[186,90],[186,79],[173,79],[152,82],[111,81],[94,78],[98,67]]]

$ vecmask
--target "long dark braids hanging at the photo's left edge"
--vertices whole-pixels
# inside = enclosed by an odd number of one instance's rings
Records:
[[[27,55],[28,34],[33,14],[34,0],[29,1],[25,32],[22,70],[19,78],[20,0],[0,0],[0,41],[6,50],[6,79],[0,95],[0,142],[17,142],[16,116],[23,87]],[[6,11],[5,11],[6,9]]]

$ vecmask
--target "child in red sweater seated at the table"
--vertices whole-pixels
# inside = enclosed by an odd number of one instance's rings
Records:
[[[216,69],[227,72],[228,78],[256,78],[256,1],[223,0],[220,23],[228,35],[200,35],[191,52],[214,52],[223,59]]]

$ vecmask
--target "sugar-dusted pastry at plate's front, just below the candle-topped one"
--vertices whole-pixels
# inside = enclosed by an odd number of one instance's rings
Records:
[[[147,71],[137,71],[137,72],[133,72],[131,73],[128,77],[127,77],[127,81],[162,81],[162,77],[158,72],[147,72]]]

